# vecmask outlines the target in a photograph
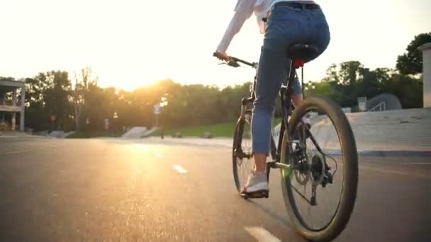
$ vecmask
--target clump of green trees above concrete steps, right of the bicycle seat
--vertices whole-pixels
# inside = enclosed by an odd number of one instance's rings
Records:
[[[339,81],[337,81],[339,80]],[[403,108],[422,106],[420,79],[399,74],[388,68],[371,70],[360,62],[343,62],[340,69],[332,64],[320,83],[313,83],[312,96],[328,96],[343,107],[357,105],[357,98],[373,98],[381,93],[392,93],[401,100]]]

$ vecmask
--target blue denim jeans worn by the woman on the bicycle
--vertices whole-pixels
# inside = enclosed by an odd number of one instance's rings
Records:
[[[288,47],[295,43],[316,45],[320,55],[328,47],[329,41],[329,27],[322,10],[272,7],[257,70],[256,100],[252,115],[254,153],[269,154],[275,100],[291,66],[291,59],[286,53]],[[293,88],[295,93],[301,90],[298,85],[296,81],[296,87]]]

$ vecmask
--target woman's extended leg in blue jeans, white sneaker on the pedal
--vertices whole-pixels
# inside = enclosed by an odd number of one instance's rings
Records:
[[[308,42],[310,40],[308,35],[313,35],[315,32],[315,29],[308,25],[310,18],[303,11],[298,12],[290,8],[273,8],[272,11],[274,13],[267,22],[267,33],[259,59],[256,100],[252,115],[255,172],[254,175],[250,175],[245,192],[268,189],[264,171],[269,154],[272,112],[281,83],[286,80],[290,71],[290,60],[286,57],[286,50],[293,42]],[[313,13],[308,14],[313,15]],[[314,27],[321,26],[322,24],[316,24]],[[302,101],[302,96],[296,91],[295,93],[297,95],[293,98],[298,105]]]

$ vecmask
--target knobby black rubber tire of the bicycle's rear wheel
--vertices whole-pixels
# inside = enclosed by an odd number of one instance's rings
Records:
[[[358,155],[356,143],[352,127],[349,125],[345,113],[342,112],[339,105],[330,100],[329,98],[308,97],[303,100],[293,112],[291,121],[289,123],[289,130],[284,132],[283,143],[281,148],[281,162],[289,163],[289,134],[293,133],[294,127],[301,121],[301,117],[307,110],[318,108],[328,114],[332,124],[342,145],[342,159],[346,161],[343,169],[343,184],[340,201],[337,205],[337,210],[328,226],[321,230],[311,230],[303,222],[296,202],[294,201],[293,192],[291,188],[291,171],[281,171],[281,188],[283,192],[284,202],[286,209],[291,217],[293,226],[298,231],[298,234],[307,238],[310,241],[331,241],[339,236],[347,226],[347,223],[352,215],[354,203],[357,197],[358,185]],[[289,172],[289,175],[283,174]]]

